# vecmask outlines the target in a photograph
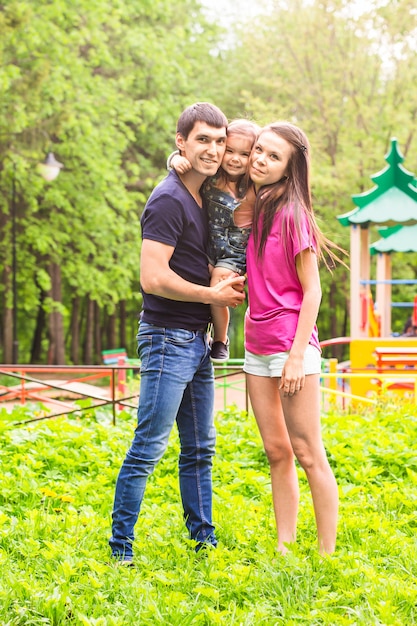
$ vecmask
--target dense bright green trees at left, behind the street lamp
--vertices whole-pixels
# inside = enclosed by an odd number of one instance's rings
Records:
[[[0,7],[0,185],[8,188],[15,162],[24,360],[42,352],[53,363],[63,362],[66,352],[77,359],[80,342],[87,346],[84,358],[96,360],[101,338],[94,327],[117,310],[136,323],[140,213],[164,175],[176,118],[194,99],[194,77],[211,45],[213,29],[198,26],[198,9],[192,0],[77,0],[65,8],[60,0],[34,0]],[[50,185],[30,169],[46,146],[65,164]],[[8,337],[7,196],[0,211]],[[128,308],[118,309],[120,302]],[[49,318],[47,340],[42,312]],[[70,323],[74,332],[67,333]],[[126,318],[120,326],[125,333]],[[66,337],[76,344],[67,345]]]

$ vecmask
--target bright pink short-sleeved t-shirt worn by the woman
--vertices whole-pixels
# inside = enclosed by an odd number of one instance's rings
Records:
[[[303,290],[297,276],[295,257],[312,244],[305,220],[301,242],[297,238],[289,240],[285,251],[282,220],[287,219],[286,213],[286,207],[276,213],[261,259],[257,257],[253,233],[249,237],[246,251],[249,307],[245,318],[245,348],[254,354],[268,355],[290,350],[297,329]],[[259,227],[262,228],[262,216]],[[291,215],[289,227],[294,231]],[[320,350],[316,325],[309,343]]]

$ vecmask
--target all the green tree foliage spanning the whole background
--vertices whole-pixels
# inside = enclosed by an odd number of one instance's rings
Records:
[[[336,216],[353,208],[352,194],[369,189],[391,137],[417,171],[411,0],[260,0],[250,19],[238,2],[224,4],[229,13],[212,10],[211,20],[211,3],[197,0],[0,5],[3,360],[10,361],[12,335],[13,181],[20,360],[44,362],[59,342],[74,361],[79,337],[84,347],[94,344],[85,361],[125,342],[133,356],[139,217],[190,102],[213,101],[230,119],[300,124],[313,149],[320,225],[346,249],[349,232]],[[47,184],[33,166],[50,149],[65,167]],[[396,272],[415,278],[415,265],[404,256]],[[322,271],[323,339],[349,334],[348,282],[342,266]],[[399,287],[395,297],[410,301],[410,291]],[[240,313],[234,356],[242,349]],[[62,322],[58,337],[47,324],[53,315]],[[394,309],[393,330],[403,317]]]

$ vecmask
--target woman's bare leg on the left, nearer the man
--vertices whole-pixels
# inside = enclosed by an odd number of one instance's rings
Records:
[[[268,457],[272,499],[278,532],[278,550],[285,554],[285,544],[296,538],[298,512],[298,477],[294,453],[288,437],[278,378],[247,374],[249,397]]]

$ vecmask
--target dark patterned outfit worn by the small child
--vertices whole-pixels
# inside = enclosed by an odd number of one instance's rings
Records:
[[[251,229],[236,226],[233,216],[240,200],[217,189],[215,183],[215,178],[209,179],[202,190],[209,218],[209,261],[215,267],[245,274]]]

